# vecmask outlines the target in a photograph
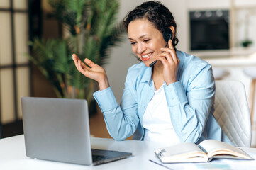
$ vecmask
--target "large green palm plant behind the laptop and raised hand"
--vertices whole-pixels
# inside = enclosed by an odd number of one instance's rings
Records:
[[[94,81],[77,71],[72,61],[76,53],[99,65],[106,64],[111,47],[123,40],[121,22],[116,23],[118,0],[50,0],[52,14],[63,23],[67,38],[34,38],[29,59],[52,83],[57,97],[86,98],[91,101]]]

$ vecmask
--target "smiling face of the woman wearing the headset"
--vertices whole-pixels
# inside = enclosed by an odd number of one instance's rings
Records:
[[[162,51],[161,47],[165,47],[166,43],[162,33],[148,21],[148,19],[136,19],[128,25],[128,38],[132,45],[132,50],[145,66],[157,60],[157,55]]]

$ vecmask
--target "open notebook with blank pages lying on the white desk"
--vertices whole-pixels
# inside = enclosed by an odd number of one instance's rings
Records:
[[[204,140],[199,145],[194,143],[180,143],[171,147],[164,147],[155,151],[162,163],[178,162],[209,162],[211,159],[248,159],[246,152],[218,140]]]

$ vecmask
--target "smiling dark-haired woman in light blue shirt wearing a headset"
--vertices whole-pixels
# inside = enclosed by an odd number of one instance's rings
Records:
[[[73,55],[78,71],[99,83],[94,98],[109,134],[115,140],[133,135],[169,145],[206,139],[232,144],[213,118],[211,65],[175,48],[179,40],[172,13],[160,2],[148,1],[130,11],[123,23],[142,62],[128,69],[120,106],[105,70]]]

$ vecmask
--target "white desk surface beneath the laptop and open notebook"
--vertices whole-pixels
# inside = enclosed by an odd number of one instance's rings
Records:
[[[104,138],[91,138],[91,145],[96,149],[113,149],[123,152],[133,152],[133,157],[127,159],[118,160],[116,162],[110,162],[108,164],[101,164],[99,166],[82,166],[77,164],[67,164],[60,162],[50,162],[44,160],[30,159],[26,157],[24,136],[18,135],[15,137],[4,138],[0,140],[0,169],[111,169],[111,170],[126,170],[126,169],[165,169],[160,165],[154,164],[149,159],[157,160],[154,154],[155,149],[163,147],[155,142],[143,142],[143,141],[114,141]],[[256,148],[243,148],[246,152],[255,153]],[[227,160],[227,159],[226,159]],[[214,164],[234,164],[239,161],[212,161],[210,163],[202,164],[169,164],[172,169],[186,169],[187,166],[203,165],[209,166]],[[243,161],[245,162],[245,161]],[[240,162],[242,163],[242,162]],[[256,161],[247,161],[244,164],[237,163],[235,165],[237,169],[243,167],[243,169],[256,169]],[[246,164],[246,166],[245,166]],[[232,169],[233,169],[232,166]],[[240,168],[239,168],[240,166]],[[247,168],[245,168],[247,167]],[[203,167],[205,168],[205,167]],[[197,167],[196,169],[200,169]]]

